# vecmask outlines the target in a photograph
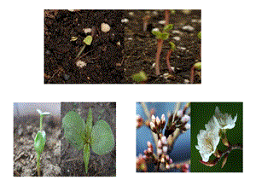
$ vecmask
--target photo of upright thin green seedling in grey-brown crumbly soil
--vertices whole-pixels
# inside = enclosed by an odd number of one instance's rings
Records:
[[[14,103],[14,176],[61,175],[61,103]]]

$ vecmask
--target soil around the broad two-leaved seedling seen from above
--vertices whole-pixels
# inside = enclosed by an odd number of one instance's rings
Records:
[[[110,125],[114,140],[116,138],[116,107],[114,102],[61,102],[61,118],[75,110],[82,119],[87,119],[89,108],[92,110],[93,123],[98,119]],[[116,176],[116,147],[108,154],[98,155],[90,149],[88,173],[84,171],[83,150],[78,151],[67,142],[61,131],[61,174],[64,177],[114,177]]]

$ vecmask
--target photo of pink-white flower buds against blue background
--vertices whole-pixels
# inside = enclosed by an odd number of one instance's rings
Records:
[[[189,172],[190,103],[137,103],[137,172]]]

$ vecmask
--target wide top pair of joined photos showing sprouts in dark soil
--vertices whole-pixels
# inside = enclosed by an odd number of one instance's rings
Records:
[[[201,84],[201,10],[44,10],[44,84]]]

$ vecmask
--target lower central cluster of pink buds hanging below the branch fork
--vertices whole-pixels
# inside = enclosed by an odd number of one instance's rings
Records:
[[[158,140],[157,143],[157,155],[159,157],[160,163],[162,165],[165,165],[166,169],[171,168],[172,164],[172,159],[169,157],[167,154],[167,139],[165,136],[160,135],[160,139]]]

